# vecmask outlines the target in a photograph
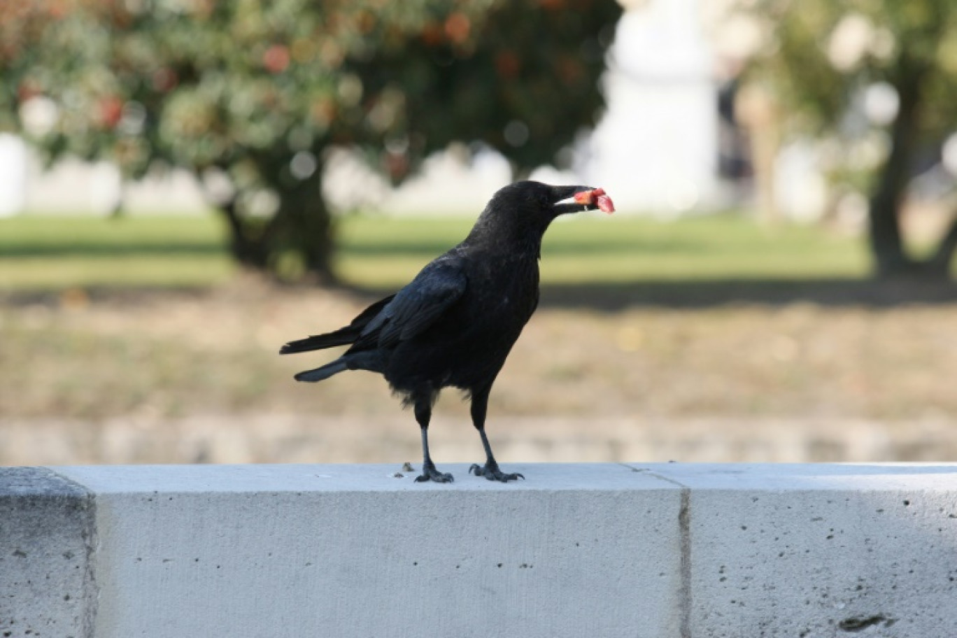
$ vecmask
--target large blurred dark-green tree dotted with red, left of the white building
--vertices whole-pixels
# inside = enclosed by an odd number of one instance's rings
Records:
[[[0,3],[0,130],[129,177],[185,166],[244,265],[332,276],[330,145],[397,183],[454,140],[553,162],[603,102],[613,0]],[[223,179],[228,178],[228,179]]]

